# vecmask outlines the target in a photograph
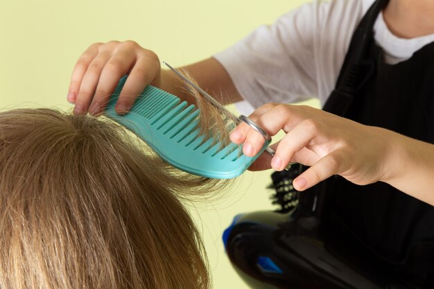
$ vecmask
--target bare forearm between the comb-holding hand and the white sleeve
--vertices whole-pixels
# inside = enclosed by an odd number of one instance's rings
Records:
[[[224,105],[243,99],[236,90],[234,82],[232,82],[225,68],[214,58],[208,58],[207,60],[182,67],[182,69],[186,69],[202,89]],[[182,80],[177,78],[171,71],[162,69],[161,87],[171,94],[175,94],[189,102],[194,102],[194,98],[182,89]]]

